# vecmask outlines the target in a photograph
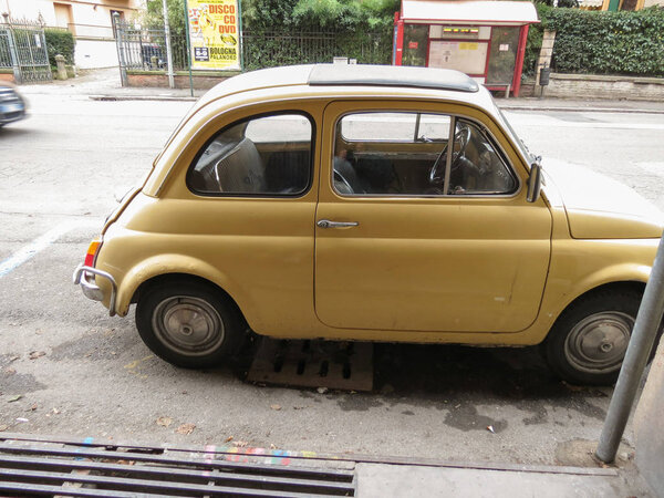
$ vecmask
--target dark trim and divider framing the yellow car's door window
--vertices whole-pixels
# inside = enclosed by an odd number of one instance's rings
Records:
[[[334,188],[334,166],[333,166],[333,159],[334,159],[334,152],[335,152],[335,146],[336,146],[336,134],[333,137],[333,147],[332,147],[332,157],[330,158],[330,163],[331,163],[331,167],[330,167],[330,187],[332,188],[332,193],[335,196],[342,197],[342,198],[346,198],[346,199],[359,199],[359,198],[370,198],[370,199],[386,199],[386,198],[398,198],[398,199],[496,199],[496,198],[500,198],[500,199],[507,199],[507,198],[515,198],[517,197],[521,189],[522,189],[522,185],[523,183],[521,181],[521,177],[517,174],[516,168],[513,167],[513,165],[511,164],[511,162],[509,160],[509,156],[508,154],[505,152],[505,149],[502,148],[502,145],[500,145],[500,141],[498,141],[495,135],[491,133],[490,129],[488,129],[481,122],[479,122],[478,120],[474,118],[474,117],[469,117],[467,115],[464,114],[445,114],[442,112],[435,112],[435,111],[427,111],[427,112],[423,112],[423,111],[416,111],[416,110],[390,110],[390,111],[383,111],[383,110],[364,110],[364,111],[350,111],[350,112],[345,112],[343,114],[340,114],[335,122],[334,122],[334,126],[333,129],[338,129],[339,128],[339,124],[341,122],[341,120],[343,120],[345,116],[347,115],[352,115],[352,114],[369,114],[369,113],[385,113],[385,114],[397,114],[397,113],[412,113],[412,114],[417,114],[417,113],[422,113],[422,114],[442,114],[442,115],[446,115],[449,116],[450,118],[450,135],[454,135],[454,132],[456,131],[456,123],[458,120],[465,121],[467,123],[474,124],[475,126],[478,127],[479,132],[485,136],[485,138],[487,138],[491,146],[496,149],[496,153],[498,154],[500,160],[502,162],[502,164],[507,167],[508,173],[510,174],[510,176],[516,180],[516,187],[513,190],[509,191],[509,193],[505,193],[505,194],[494,194],[494,193],[484,193],[484,194],[447,194],[448,191],[448,178],[447,176],[452,173],[450,172],[450,165],[447,164],[448,162],[452,162],[452,154],[447,155],[446,158],[446,165],[445,165],[445,181],[444,181],[444,188],[447,188],[445,190],[445,194],[419,194],[419,195],[413,195],[413,194],[394,194],[394,193],[390,193],[390,194],[342,194],[340,191],[336,190],[336,188]],[[340,136],[343,138],[343,135],[340,133]],[[449,141],[449,138],[448,138]],[[384,142],[384,141],[356,141],[359,143],[365,143],[365,142],[371,142],[371,143],[375,143],[375,142]],[[391,142],[391,143],[404,143],[404,142]],[[414,142],[405,142],[405,143],[414,143]],[[449,142],[448,142],[449,143]]]

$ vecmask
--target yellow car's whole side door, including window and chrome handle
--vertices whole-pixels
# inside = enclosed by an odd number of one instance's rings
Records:
[[[331,103],[323,123],[314,277],[321,322],[432,332],[515,332],[533,322],[551,216],[543,199],[527,203],[527,169],[495,123],[459,105],[378,101]],[[467,137],[460,154],[464,123],[488,145],[480,138],[471,154],[476,137]],[[442,152],[452,141],[447,159]],[[501,174],[481,187],[453,167],[460,156],[483,167],[498,160]]]

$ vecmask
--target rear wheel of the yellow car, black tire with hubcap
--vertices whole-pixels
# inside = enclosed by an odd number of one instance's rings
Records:
[[[185,280],[143,292],[136,328],[157,356],[185,369],[218,366],[237,353],[247,330],[227,295],[212,286]]]

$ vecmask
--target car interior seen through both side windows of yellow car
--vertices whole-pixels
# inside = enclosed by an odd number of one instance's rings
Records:
[[[311,178],[311,128],[302,115],[257,117],[225,128],[198,155],[187,184],[204,195],[302,194]],[[333,186],[340,195],[508,195],[518,187],[488,134],[470,121],[354,113],[335,129]]]

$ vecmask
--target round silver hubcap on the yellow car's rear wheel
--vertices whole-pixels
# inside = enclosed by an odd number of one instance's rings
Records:
[[[153,330],[176,353],[204,356],[224,341],[224,321],[207,301],[176,295],[162,301],[153,313]]]

